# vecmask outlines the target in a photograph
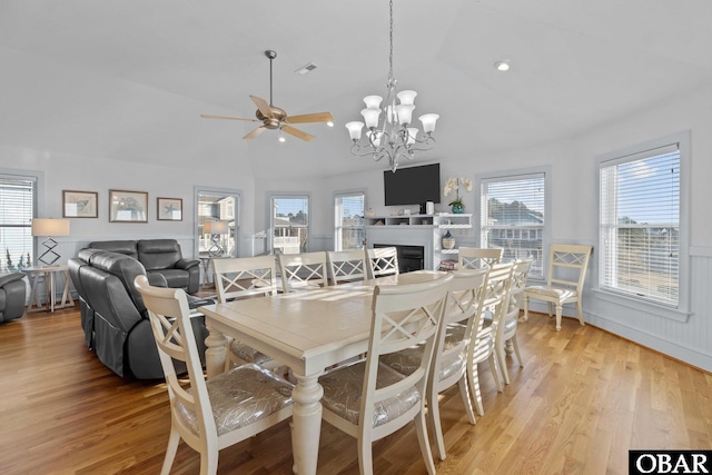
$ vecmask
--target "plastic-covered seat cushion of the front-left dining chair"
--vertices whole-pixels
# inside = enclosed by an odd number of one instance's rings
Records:
[[[253,364],[238,366],[206,384],[218,435],[246,427],[293,404],[294,385]],[[180,403],[177,409],[197,433],[196,414]]]

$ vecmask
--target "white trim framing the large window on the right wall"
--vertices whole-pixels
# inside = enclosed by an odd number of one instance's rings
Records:
[[[691,151],[691,133],[682,131],[672,133],[666,137],[650,140],[644,144],[626,147],[622,150],[604,154],[596,158],[596,243],[601,243],[601,168],[615,164],[616,159],[624,161],[626,157],[641,154],[646,150],[665,147],[671,144],[679,144],[680,149],[680,235],[679,235],[679,289],[678,289],[678,308],[655,304],[653,301],[636,299],[633,296],[622,295],[603,289],[599,286],[600,266],[594,266],[595,275],[593,284],[593,293],[596,298],[646,311],[652,315],[670,318],[676,321],[686,321],[690,313],[690,151]]]

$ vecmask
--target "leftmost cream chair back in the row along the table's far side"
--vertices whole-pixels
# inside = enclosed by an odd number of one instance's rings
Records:
[[[212,259],[218,301],[277,291],[273,256]]]

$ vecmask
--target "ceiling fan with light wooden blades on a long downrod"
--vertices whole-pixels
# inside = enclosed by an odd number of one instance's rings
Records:
[[[257,119],[246,119],[241,117],[229,117],[229,116],[212,116],[208,113],[201,113],[200,117],[204,119],[227,119],[227,120],[248,120],[250,122],[263,122],[261,126],[257,127],[245,137],[245,140],[250,140],[264,132],[265,130],[283,130],[286,133],[295,136],[301,140],[310,141],[314,140],[315,137],[305,131],[296,129],[290,126],[290,123],[308,123],[308,122],[333,122],[334,117],[332,117],[332,112],[316,112],[316,113],[305,113],[301,116],[287,116],[284,109],[273,106],[271,103],[271,61],[277,58],[277,52],[268,49],[265,51],[265,56],[269,58],[269,103],[259,96],[250,96],[255,106],[257,106],[257,111],[255,116]]]

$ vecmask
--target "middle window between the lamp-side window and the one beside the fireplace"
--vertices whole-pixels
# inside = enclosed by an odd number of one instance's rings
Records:
[[[306,253],[309,248],[309,197],[271,197],[273,251]]]

